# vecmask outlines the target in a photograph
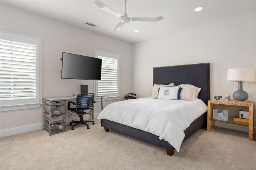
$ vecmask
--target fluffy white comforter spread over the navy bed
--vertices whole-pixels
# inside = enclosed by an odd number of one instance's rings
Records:
[[[179,152],[184,130],[206,111],[207,106],[200,99],[139,98],[109,104],[100,112],[98,121],[107,119],[152,133]]]

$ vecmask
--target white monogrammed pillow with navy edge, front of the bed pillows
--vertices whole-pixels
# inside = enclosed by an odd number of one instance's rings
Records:
[[[180,88],[176,87],[160,87],[158,93],[158,99],[170,99],[170,100],[178,100],[180,98]]]

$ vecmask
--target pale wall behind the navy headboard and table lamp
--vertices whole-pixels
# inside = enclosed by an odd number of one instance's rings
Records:
[[[151,96],[153,67],[210,63],[210,99],[223,98],[238,89],[237,82],[226,81],[228,69],[256,68],[256,11],[135,43],[132,52],[138,97]],[[244,82],[243,89],[256,104],[256,82]]]

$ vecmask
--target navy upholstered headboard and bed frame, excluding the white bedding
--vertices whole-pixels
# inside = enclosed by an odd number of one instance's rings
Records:
[[[156,67],[153,68],[153,84],[192,84],[198,88],[201,88],[198,99],[201,100],[205,105],[209,100],[209,73],[210,73],[210,63],[200,63],[200,64],[187,64],[178,66],[166,66],[166,67]],[[136,100],[136,99],[131,99]],[[150,100],[150,99],[145,99]],[[106,108],[106,107],[105,107]],[[104,109],[105,109],[104,108]],[[104,109],[102,111],[104,111]],[[99,115],[100,116],[100,115]],[[192,123],[184,130],[184,139],[188,139],[193,135],[198,129],[206,125],[207,113],[203,113],[198,118],[196,118]],[[160,139],[159,136],[152,133],[124,125],[122,123],[117,123],[115,121],[110,121],[108,119],[99,119],[101,121],[101,126],[104,127],[105,131],[108,132],[110,129],[117,131],[119,133],[128,135],[152,143],[154,145],[163,147],[166,149],[168,155],[172,156],[174,150],[177,148],[170,145],[170,142]]]

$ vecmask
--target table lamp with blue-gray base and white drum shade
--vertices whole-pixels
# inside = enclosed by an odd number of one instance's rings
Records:
[[[233,93],[234,100],[245,101],[248,93],[243,90],[243,82],[256,81],[256,69],[254,68],[233,68],[228,69],[227,81],[238,82],[238,90]]]

